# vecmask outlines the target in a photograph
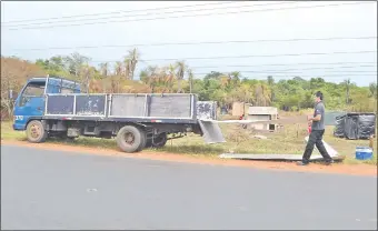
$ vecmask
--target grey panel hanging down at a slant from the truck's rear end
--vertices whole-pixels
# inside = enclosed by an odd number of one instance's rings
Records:
[[[202,130],[202,138],[207,143],[223,143],[226,142],[222,131],[217,121],[198,120]]]

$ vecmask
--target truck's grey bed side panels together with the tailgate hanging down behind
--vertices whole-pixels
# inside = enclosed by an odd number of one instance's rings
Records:
[[[213,102],[190,93],[46,94],[44,119],[199,125],[207,143],[225,142]],[[206,120],[206,121],[202,121]]]

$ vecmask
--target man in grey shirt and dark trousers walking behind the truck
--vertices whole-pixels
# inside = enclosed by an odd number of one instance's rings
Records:
[[[307,165],[310,162],[314,145],[318,148],[327,165],[334,162],[332,158],[328,154],[322,143],[322,135],[325,134],[325,111],[326,109],[325,104],[322,103],[322,93],[318,91],[315,94],[314,116],[308,118],[308,122],[311,124],[311,133],[306,145],[302,161],[298,162],[298,165]]]

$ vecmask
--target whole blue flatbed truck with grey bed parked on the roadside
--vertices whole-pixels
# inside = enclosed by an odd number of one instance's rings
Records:
[[[49,137],[116,138],[122,151],[138,152],[187,132],[202,135],[207,143],[225,142],[218,123],[211,122],[215,110],[191,93],[81,93],[78,82],[48,76],[31,78],[22,88],[14,102],[13,130],[26,131],[33,143]],[[203,114],[206,120],[200,119]]]

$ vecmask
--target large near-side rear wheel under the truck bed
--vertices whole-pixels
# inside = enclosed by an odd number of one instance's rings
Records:
[[[125,152],[137,152],[146,145],[146,133],[133,125],[125,125],[117,133],[117,144]]]

